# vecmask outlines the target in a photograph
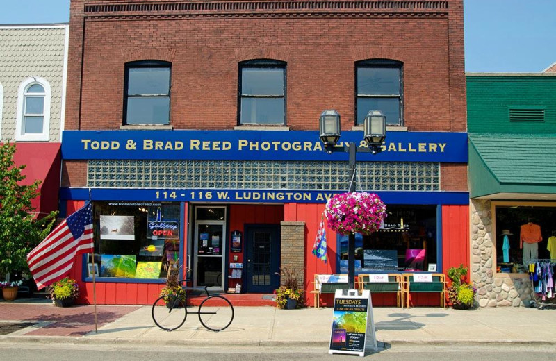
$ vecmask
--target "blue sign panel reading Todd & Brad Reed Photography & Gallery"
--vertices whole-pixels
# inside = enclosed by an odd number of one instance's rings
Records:
[[[338,146],[366,146],[345,131]],[[328,154],[318,131],[64,131],[62,158],[161,160],[347,160]],[[467,133],[389,132],[382,153],[359,161],[467,162]]]

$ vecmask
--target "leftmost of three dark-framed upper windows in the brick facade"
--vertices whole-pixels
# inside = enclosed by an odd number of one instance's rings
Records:
[[[124,124],[170,124],[170,62],[126,64]]]

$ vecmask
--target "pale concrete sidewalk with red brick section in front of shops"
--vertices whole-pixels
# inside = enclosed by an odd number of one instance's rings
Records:
[[[192,310],[196,310],[193,308]],[[327,346],[332,308],[280,310],[236,307],[226,330],[205,330],[196,314],[189,314],[178,330],[154,325],[150,306],[97,306],[95,333],[92,305],[56,308],[51,303],[0,303],[0,331],[4,324],[39,322],[8,335],[0,342],[72,342],[156,345]],[[556,309],[373,308],[377,340],[386,344],[453,344],[461,342],[556,345]]]

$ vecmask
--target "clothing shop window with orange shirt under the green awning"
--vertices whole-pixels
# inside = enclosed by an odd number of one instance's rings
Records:
[[[529,265],[556,260],[556,206],[496,206],[496,271],[526,274]]]

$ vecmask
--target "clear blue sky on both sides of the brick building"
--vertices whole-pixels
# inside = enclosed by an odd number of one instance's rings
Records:
[[[556,62],[556,0],[464,0],[466,72],[541,72]],[[70,0],[0,0],[0,24],[70,21]]]

